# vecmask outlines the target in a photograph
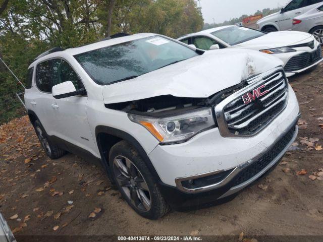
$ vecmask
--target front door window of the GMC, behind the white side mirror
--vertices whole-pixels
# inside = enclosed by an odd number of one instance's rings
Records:
[[[64,59],[53,59],[52,60],[52,81],[53,86],[71,81],[76,90],[83,88],[82,82],[74,72],[73,68]]]

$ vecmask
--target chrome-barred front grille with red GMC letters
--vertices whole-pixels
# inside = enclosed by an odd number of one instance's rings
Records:
[[[255,135],[286,107],[288,82],[281,68],[260,74],[248,84],[215,108],[224,137]]]

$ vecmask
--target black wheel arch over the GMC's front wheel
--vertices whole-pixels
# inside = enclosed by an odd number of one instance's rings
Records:
[[[109,165],[109,153],[111,148],[117,144],[119,141],[125,140],[130,145],[132,145],[139,153],[145,164],[147,165],[149,171],[153,175],[156,183],[159,183],[160,177],[154,168],[153,164],[151,163],[147,153],[145,152],[144,148],[140,145],[140,143],[130,134],[107,126],[97,126],[95,128],[95,139],[97,142],[97,146],[100,152],[102,166],[107,171],[109,176],[111,177],[111,169]]]

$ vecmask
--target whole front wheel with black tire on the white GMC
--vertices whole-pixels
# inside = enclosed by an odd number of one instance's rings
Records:
[[[163,217],[169,207],[147,165],[137,150],[126,141],[115,144],[109,154],[113,178],[127,203],[148,219]]]

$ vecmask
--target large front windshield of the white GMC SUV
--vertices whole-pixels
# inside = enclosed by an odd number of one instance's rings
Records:
[[[74,57],[99,85],[128,80],[198,54],[175,41],[150,36],[106,46]]]

